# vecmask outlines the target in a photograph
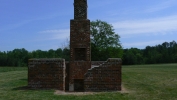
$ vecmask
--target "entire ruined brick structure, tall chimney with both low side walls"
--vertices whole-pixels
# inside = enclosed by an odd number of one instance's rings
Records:
[[[87,0],[74,0],[70,20],[70,61],[60,58],[29,59],[28,87],[63,91],[121,90],[120,58],[91,61],[90,20]]]

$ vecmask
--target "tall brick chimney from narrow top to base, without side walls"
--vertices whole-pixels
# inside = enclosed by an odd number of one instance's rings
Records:
[[[69,91],[84,90],[84,74],[91,68],[90,55],[87,0],[74,0],[74,19],[70,20]]]

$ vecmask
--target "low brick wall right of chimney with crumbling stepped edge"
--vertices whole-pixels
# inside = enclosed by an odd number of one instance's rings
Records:
[[[85,91],[116,91],[121,90],[120,58],[109,58],[100,66],[87,71],[84,78]]]

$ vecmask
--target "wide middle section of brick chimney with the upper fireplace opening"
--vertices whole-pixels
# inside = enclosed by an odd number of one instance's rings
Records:
[[[71,20],[70,61],[90,61],[90,20]]]

